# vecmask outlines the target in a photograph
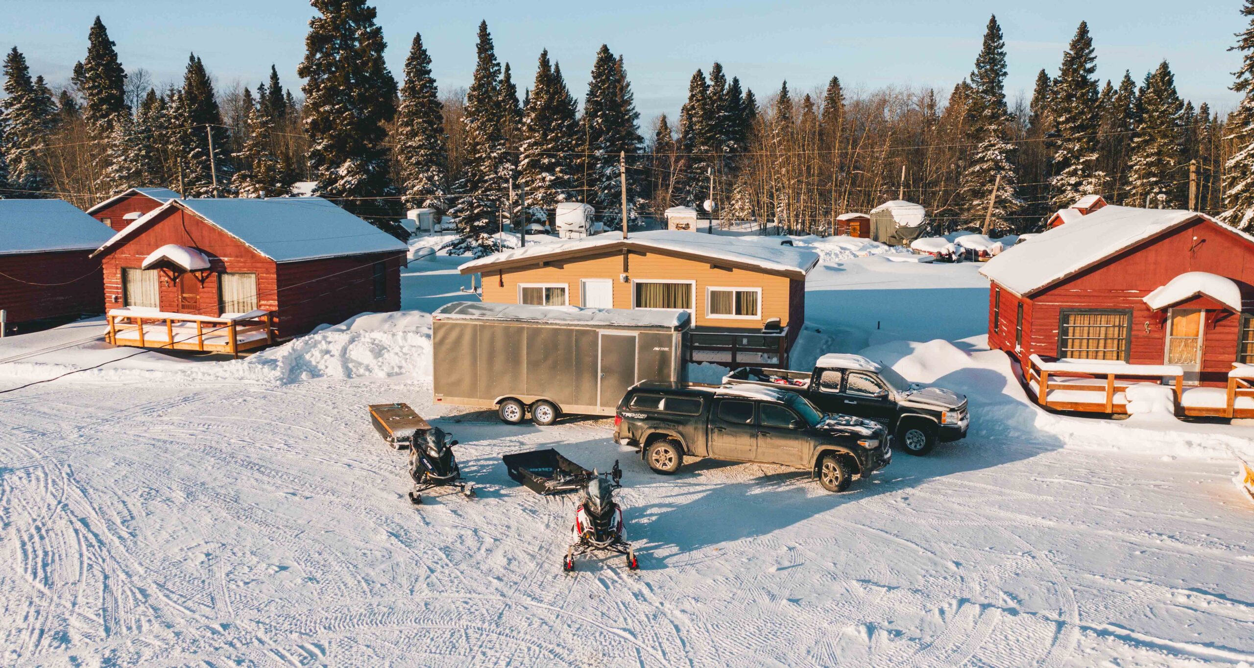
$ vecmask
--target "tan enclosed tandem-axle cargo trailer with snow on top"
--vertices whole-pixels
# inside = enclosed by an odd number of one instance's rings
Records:
[[[613,415],[640,381],[683,380],[687,311],[454,302],[433,313],[438,405],[527,414]]]

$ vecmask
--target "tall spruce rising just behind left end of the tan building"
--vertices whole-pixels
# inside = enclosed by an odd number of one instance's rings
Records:
[[[494,234],[499,229],[498,217],[510,173],[500,108],[500,63],[488,33],[488,21],[479,23],[475,50],[478,60],[461,119],[465,129],[463,173],[454,185],[456,204],[449,211],[458,226],[458,238],[448,244],[448,249],[450,254],[483,257],[498,249]]]

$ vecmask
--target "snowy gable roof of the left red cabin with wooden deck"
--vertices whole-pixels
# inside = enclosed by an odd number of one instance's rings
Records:
[[[396,237],[321,197],[172,199],[130,223],[97,253],[117,246],[172,207],[187,209],[275,262],[409,249]]]

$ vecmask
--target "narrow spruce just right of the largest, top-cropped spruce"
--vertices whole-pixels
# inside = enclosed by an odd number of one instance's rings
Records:
[[[431,56],[423,46],[423,36],[415,34],[396,112],[396,162],[405,208],[433,208],[440,216],[448,211],[446,145],[444,105],[431,76]]]

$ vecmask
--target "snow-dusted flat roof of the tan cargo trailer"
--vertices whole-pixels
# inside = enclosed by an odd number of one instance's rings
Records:
[[[508,320],[553,325],[618,325],[623,327],[682,328],[687,311],[651,308],[581,308],[578,306],[527,306],[520,303],[453,302],[431,313],[454,320]]]

